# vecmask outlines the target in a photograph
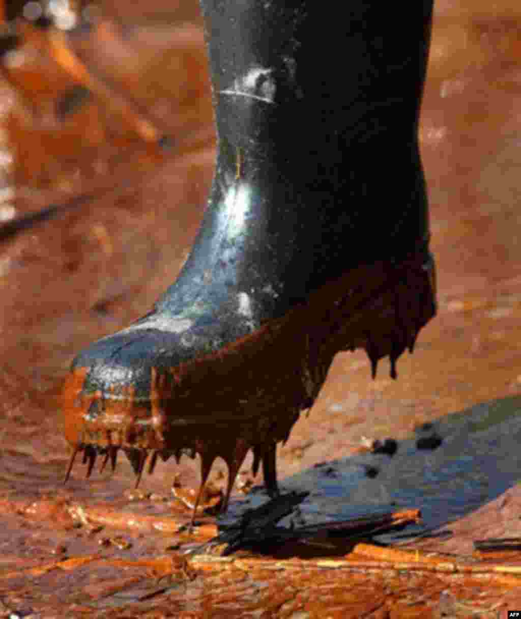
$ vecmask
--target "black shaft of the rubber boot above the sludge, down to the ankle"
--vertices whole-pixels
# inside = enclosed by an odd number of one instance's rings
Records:
[[[405,23],[379,0],[201,6],[217,165],[163,308],[200,285],[216,305],[248,295],[262,322],[359,264],[426,252],[417,132],[432,0]]]

